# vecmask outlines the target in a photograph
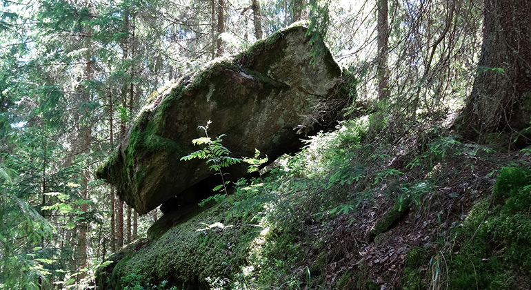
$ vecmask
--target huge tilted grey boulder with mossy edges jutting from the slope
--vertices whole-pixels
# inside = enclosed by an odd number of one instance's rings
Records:
[[[223,145],[233,157],[253,156],[257,148],[270,160],[299,148],[300,133],[331,126],[352,99],[350,81],[328,50],[310,62],[306,31],[293,26],[276,32],[156,96],[97,175],[139,213],[148,213],[214,174],[203,160],[180,161],[199,150],[192,139],[204,136],[197,127],[208,120],[210,137],[226,134]],[[230,173],[241,177],[246,166]]]

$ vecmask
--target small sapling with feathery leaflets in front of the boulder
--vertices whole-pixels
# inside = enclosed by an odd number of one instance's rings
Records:
[[[208,120],[206,123],[206,126],[199,126],[198,128],[205,131],[205,137],[197,138],[192,140],[192,144],[194,145],[203,145],[204,147],[201,150],[195,151],[193,153],[190,153],[190,155],[186,155],[184,157],[181,157],[181,160],[192,160],[192,159],[203,159],[206,160],[206,164],[208,164],[208,168],[210,168],[211,171],[216,171],[216,174],[221,176],[221,184],[217,185],[212,189],[212,191],[219,191],[221,190],[226,195],[228,195],[227,191],[227,185],[230,184],[230,180],[225,180],[225,173],[223,173],[223,168],[227,168],[231,165],[237,164],[241,162],[241,158],[234,158],[230,157],[230,151],[221,144],[223,142],[222,137],[225,137],[225,134],[221,134],[216,139],[212,140],[210,137],[208,137],[208,126],[210,126],[212,122]]]

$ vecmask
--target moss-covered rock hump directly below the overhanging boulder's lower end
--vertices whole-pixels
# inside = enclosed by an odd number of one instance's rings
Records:
[[[152,284],[166,280],[168,286],[200,289],[208,289],[208,278],[231,278],[246,263],[249,245],[261,229],[247,225],[251,217],[234,220],[226,206],[212,206],[128,253],[112,271],[112,289],[123,289],[121,278],[130,273],[148,277]]]

